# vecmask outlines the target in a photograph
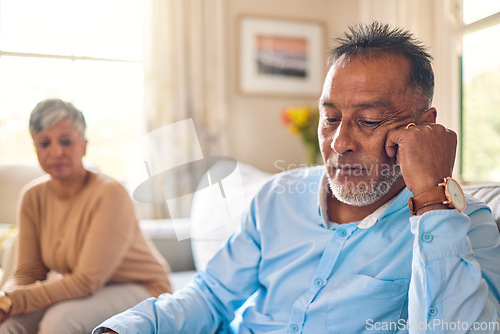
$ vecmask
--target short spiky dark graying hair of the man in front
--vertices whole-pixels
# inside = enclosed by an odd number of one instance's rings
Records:
[[[388,24],[372,22],[349,27],[344,37],[335,39],[336,46],[329,51],[328,63],[332,65],[341,57],[348,62],[354,57],[378,57],[399,54],[410,64],[408,85],[427,97],[429,106],[434,95],[434,72],[432,56],[422,42],[413,34],[401,28],[391,28]]]

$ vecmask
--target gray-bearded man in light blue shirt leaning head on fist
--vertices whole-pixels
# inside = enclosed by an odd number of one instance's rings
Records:
[[[377,22],[337,42],[319,100],[325,165],[272,177],[187,288],[95,333],[500,330],[499,232],[450,178],[457,139],[435,123],[430,55]]]

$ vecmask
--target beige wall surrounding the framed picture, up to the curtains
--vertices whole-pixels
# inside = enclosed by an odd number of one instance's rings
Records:
[[[231,0],[227,2],[229,155],[268,172],[307,163],[305,148],[281,123],[285,107],[315,105],[317,97],[249,96],[239,90],[239,20],[243,15],[317,21],[324,26],[325,44],[357,20],[356,1]],[[323,50],[326,54],[326,48]],[[327,68],[322,64],[324,73]]]

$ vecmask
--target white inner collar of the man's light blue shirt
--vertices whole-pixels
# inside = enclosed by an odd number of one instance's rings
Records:
[[[362,229],[367,229],[367,228],[372,227],[377,222],[377,220],[380,218],[380,216],[391,206],[391,204],[394,203],[394,201],[396,201],[397,198],[406,196],[406,195],[400,196],[401,193],[406,194],[406,192],[409,192],[409,190],[407,188],[400,191],[397,195],[395,195],[393,198],[391,198],[390,200],[385,202],[377,210],[375,210],[374,212],[372,212],[371,214],[366,216],[363,220],[358,221],[358,222],[353,222],[353,223],[356,224],[358,226],[358,228],[362,228]],[[323,178],[320,182],[318,202],[319,202],[319,213],[320,213],[321,218],[322,218],[322,223],[323,223],[323,226],[326,228],[328,228],[328,226],[332,224],[328,220],[327,196],[329,194],[330,194],[330,188],[328,186],[328,177],[327,177],[326,171],[325,171],[325,173],[323,174]],[[410,195],[411,195],[411,193],[410,193]],[[409,197],[409,196],[407,196],[407,197]],[[398,200],[398,202],[400,202],[400,201]]]

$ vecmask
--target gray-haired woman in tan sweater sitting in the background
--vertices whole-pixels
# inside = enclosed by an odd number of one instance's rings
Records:
[[[40,102],[30,132],[50,176],[23,195],[19,256],[0,291],[0,333],[90,333],[110,316],[170,292],[170,269],[142,235],[127,191],[84,168],[85,119]],[[49,271],[57,272],[47,279]]]

